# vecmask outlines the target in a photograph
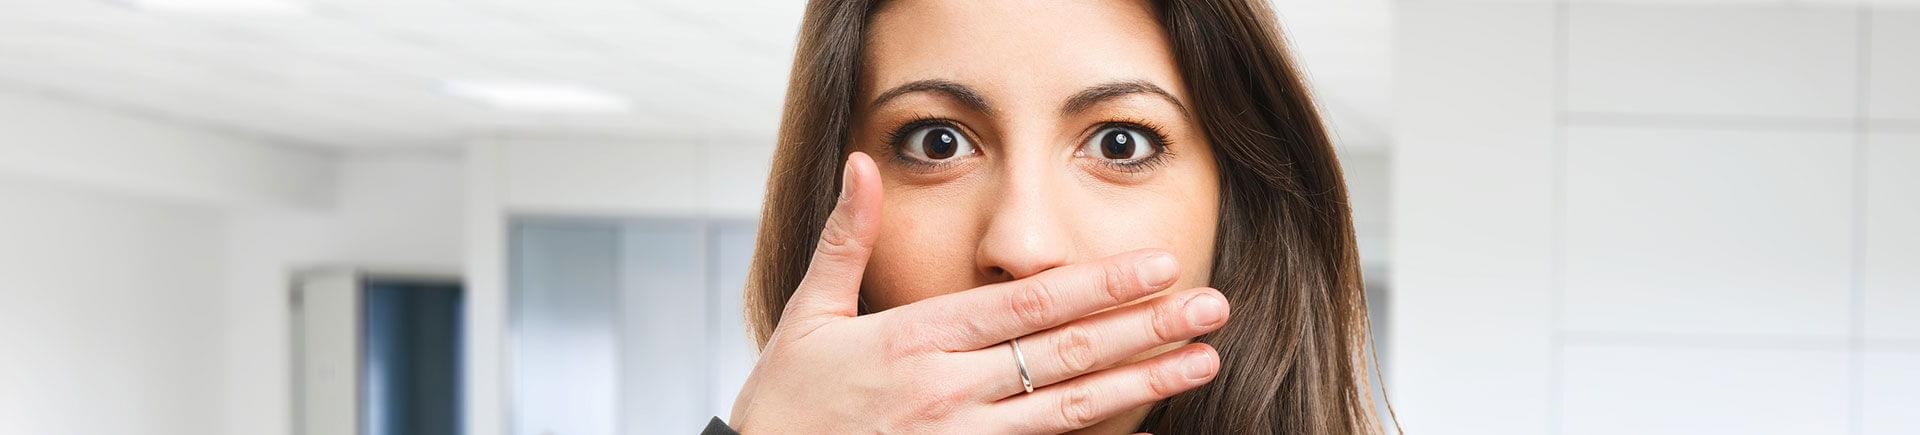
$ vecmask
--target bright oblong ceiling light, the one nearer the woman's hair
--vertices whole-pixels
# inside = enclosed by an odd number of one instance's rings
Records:
[[[630,109],[626,98],[563,82],[451,80],[447,82],[445,92],[511,111]]]

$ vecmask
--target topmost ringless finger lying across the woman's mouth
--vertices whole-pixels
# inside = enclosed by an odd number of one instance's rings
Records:
[[[973,351],[1054,328],[1089,312],[1117,307],[1165,289],[1179,278],[1173,255],[1140,249],[1094,263],[1058,266],[1023,280],[931,297],[906,305],[900,318],[950,328],[935,343],[943,351]]]

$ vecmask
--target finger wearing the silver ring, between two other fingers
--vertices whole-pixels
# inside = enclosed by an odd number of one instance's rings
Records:
[[[1020,351],[1033,387],[1044,387],[1110,368],[1160,345],[1198,337],[1225,324],[1227,297],[1217,289],[1200,287],[1020,337]],[[977,360],[975,366],[1012,364],[1006,347],[987,347],[968,355]],[[1025,389],[1016,381],[996,381],[987,393],[998,401],[1021,391]]]

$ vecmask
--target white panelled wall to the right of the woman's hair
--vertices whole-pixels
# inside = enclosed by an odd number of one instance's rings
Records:
[[[1920,13],[1400,6],[1407,429],[1920,431]]]

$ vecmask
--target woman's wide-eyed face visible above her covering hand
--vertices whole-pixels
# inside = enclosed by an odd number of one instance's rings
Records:
[[[1142,247],[1208,286],[1213,149],[1148,2],[889,2],[854,149],[885,205],[870,310]]]

